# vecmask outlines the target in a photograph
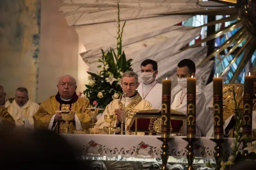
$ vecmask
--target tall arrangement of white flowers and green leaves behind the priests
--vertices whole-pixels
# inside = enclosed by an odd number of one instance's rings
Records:
[[[99,66],[97,66],[100,70],[97,70],[97,73],[88,72],[89,82],[85,85],[84,95],[94,107],[105,108],[113,99],[119,98],[122,94],[120,79],[124,72],[132,70],[132,59],[126,60],[125,53],[122,51],[122,36],[126,21],[121,28],[119,3],[117,5],[117,52],[111,47],[108,52],[101,49],[102,56],[98,61]]]

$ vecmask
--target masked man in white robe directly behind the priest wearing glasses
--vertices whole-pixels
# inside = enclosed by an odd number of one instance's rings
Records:
[[[146,59],[141,63],[141,81],[138,92],[141,97],[152,104],[154,109],[162,107],[162,84],[156,82],[157,62]]]

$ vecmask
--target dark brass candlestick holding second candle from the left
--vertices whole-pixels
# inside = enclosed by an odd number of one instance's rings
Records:
[[[186,168],[186,170],[195,170],[195,168],[193,167],[193,161],[195,158],[194,155],[194,143],[195,141],[197,141],[198,139],[193,137],[193,138],[182,138],[184,141],[188,142],[188,145],[186,146],[186,149],[188,150],[187,153],[187,159],[188,159],[188,167]]]

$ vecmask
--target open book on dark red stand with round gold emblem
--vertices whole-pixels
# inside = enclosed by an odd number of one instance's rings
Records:
[[[184,132],[182,125],[186,120],[186,115],[182,112],[171,109],[171,129],[173,134],[180,134]],[[161,111],[157,109],[138,111],[134,114],[130,125],[127,130],[130,132],[148,132],[159,133],[161,132]]]

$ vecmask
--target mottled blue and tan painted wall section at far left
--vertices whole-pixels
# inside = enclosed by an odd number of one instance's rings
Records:
[[[7,98],[24,86],[29,98],[36,100],[39,14],[40,1],[0,1],[0,84]]]

